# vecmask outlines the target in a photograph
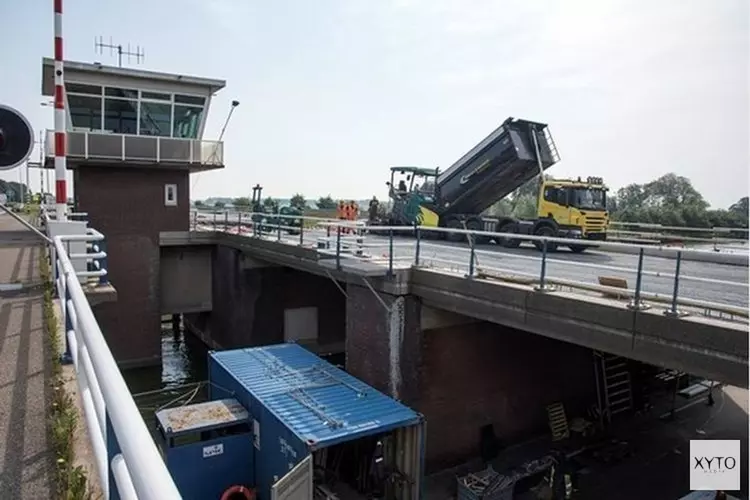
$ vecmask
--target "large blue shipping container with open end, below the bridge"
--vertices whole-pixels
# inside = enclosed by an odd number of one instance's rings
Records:
[[[385,433],[386,462],[408,478],[398,498],[421,497],[422,415],[310,351],[281,344],[210,352],[209,381],[211,399],[235,398],[250,413],[260,500],[309,498],[313,454]]]

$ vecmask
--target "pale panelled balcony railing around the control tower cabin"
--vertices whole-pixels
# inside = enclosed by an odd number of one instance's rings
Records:
[[[54,133],[54,130],[47,130],[45,152],[48,158],[55,154]],[[69,158],[214,166],[224,164],[222,141],[73,130],[66,132],[66,139]]]

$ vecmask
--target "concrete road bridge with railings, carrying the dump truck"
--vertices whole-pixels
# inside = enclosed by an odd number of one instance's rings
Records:
[[[258,262],[365,286],[373,293],[413,295],[423,305],[468,318],[747,385],[746,258],[721,263],[724,256],[701,251],[610,243],[588,254],[540,255],[532,249],[393,236],[403,228],[368,228],[370,234],[357,235],[349,230],[363,231],[338,221],[308,219],[301,230],[279,223],[259,231],[251,223],[257,216],[227,215],[215,228],[197,223],[191,232],[162,233],[162,247],[172,249],[163,254],[164,267],[171,268],[170,276],[192,273],[206,283],[213,254],[187,258],[182,250],[225,246]],[[660,252],[665,255],[654,256]],[[214,271],[215,280],[222,276]],[[175,287],[179,297],[163,297],[163,313],[211,309],[207,286],[186,285]],[[203,307],[196,309],[198,303]]]

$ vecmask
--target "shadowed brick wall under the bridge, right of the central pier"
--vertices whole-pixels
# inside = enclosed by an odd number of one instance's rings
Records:
[[[501,446],[548,433],[546,405],[568,418],[595,401],[589,349],[490,323],[424,332],[422,391],[427,462],[435,470],[479,455],[480,428]]]

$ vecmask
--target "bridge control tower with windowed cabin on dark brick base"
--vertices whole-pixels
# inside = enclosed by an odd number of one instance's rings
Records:
[[[76,210],[107,236],[117,304],[95,314],[123,367],[161,361],[159,233],[187,231],[193,172],[224,167],[224,145],[203,139],[212,96],[226,82],[65,61],[67,167]],[[54,95],[54,61],[42,60]],[[45,167],[54,168],[54,131]]]

